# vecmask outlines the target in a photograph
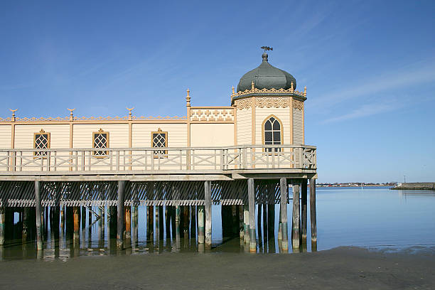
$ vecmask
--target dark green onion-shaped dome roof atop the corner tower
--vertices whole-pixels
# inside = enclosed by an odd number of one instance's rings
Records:
[[[258,68],[254,68],[240,78],[237,92],[251,90],[252,82],[254,82],[254,87],[259,90],[264,88],[267,90],[272,88],[289,90],[291,82],[293,82],[293,88],[296,90],[296,80],[293,75],[271,65],[267,61],[267,53],[263,53],[262,57],[262,64]]]

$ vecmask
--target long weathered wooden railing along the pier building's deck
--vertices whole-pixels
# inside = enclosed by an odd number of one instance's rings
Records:
[[[100,171],[114,174],[129,171],[207,173],[284,168],[315,170],[316,147],[252,145],[159,149],[0,149],[1,175],[86,174]]]

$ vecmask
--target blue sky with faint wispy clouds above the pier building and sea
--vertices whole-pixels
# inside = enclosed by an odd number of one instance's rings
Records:
[[[63,3],[61,3],[63,2]],[[435,181],[434,1],[1,1],[0,117],[186,114],[261,63],[306,85],[318,182]]]

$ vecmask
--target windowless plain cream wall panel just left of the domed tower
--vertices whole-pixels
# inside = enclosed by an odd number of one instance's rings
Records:
[[[190,124],[190,146],[234,146],[234,124]]]

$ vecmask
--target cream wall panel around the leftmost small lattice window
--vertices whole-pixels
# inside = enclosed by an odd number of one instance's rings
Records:
[[[50,149],[69,148],[70,125],[69,124],[44,124],[44,125],[15,125],[15,148],[33,149],[33,134],[43,129],[50,133]],[[11,137],[9,145],[11,147]]]

